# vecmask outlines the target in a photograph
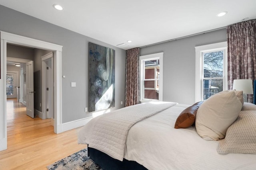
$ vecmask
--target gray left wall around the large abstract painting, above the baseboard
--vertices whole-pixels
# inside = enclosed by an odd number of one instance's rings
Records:
[[[125,50],[86,37],[68,29],[0,6],[0,30],[25,37],[62,45],[62,123],[91,116],[88,106],[88,42],[110,47],[116,51],[115,100],[119,109],[124,102]],[[76,87],[71,87],[76,82]]]

